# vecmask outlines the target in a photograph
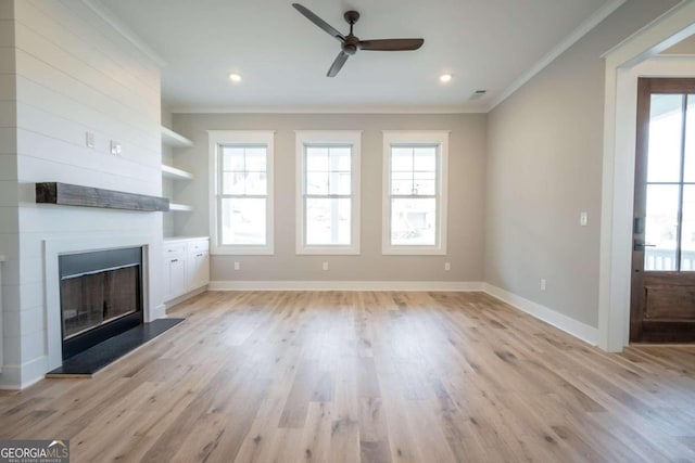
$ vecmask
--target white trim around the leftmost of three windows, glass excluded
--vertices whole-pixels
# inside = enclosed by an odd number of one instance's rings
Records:
[[[210,146],[210,247],[213,255],[271,255],[274,254],[274,130],[207,130]],[[219,146],[225,144],[258,143],[267,145],[267,203],[265,245],[219,244]]]

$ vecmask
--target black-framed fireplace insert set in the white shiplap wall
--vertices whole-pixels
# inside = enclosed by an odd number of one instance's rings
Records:
[[[143,322],[142,247],[58,259],[63,360]]]

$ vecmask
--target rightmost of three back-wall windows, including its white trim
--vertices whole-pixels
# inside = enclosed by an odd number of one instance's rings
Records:
[[[383,132],[383,254],[446,254],[447,131]]]

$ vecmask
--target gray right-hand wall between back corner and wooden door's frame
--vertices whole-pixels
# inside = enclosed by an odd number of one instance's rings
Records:
[[[629,0],[489,114],[485,282],[597,326],[601,55],[675,3]]]

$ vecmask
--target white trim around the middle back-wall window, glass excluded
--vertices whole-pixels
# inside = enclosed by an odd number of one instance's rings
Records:
[[[295,132],[296,153],[296,244],[298,255],[357,255],[359,254],[359,169],[361,169],[361,144],[362,130],[296,130]],[[304,227],[304,146],[306,144],[350,144],[352,145],[352,171],[351,171],[351,239],[350,245],[320,245],[307,246],[305,243]]]

